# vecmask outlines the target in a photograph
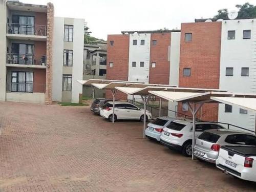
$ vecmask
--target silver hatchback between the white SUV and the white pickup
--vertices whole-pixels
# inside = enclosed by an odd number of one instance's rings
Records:
[[[201,160],[216,163],[219,150],[224,145],[255,144],[256,137],[250,133],[220,130],[204,131],[196,140],[194,155]]]

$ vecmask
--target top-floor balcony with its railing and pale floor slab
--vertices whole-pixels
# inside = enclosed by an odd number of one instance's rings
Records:
[[[6,36],[10,39],[46,41],[47,29],[42,25],[8,23]]]

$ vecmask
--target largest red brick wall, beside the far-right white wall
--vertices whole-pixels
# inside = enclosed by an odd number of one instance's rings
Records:
[[[185,33],[192,41],[185,42]],[[181,24],[180,50],[179,87],[219,89],[221,22]],[[191,68],[190,77],[183,77],[184,68]],[[184,113],[181,103],[178,111]],[[218,120],[218,104],[204,104],[202,112],[202,119]]]

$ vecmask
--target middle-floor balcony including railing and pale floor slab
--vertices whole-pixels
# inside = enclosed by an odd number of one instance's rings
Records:
[[[34,54],[9,53],[6,57],[6,66],[21,68],[46,68],[46,56],[42,55],[40,59],[36,59]]]

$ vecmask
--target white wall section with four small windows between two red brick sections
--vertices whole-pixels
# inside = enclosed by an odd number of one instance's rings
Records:
[[[137,40],[137,45],[133,45],[133,40]],[[145,40],[145,45],[140,45],[140,40]],[[149,82],[150,77],[150,45],[151,34],[130,34],[129,46],[129,81]],[[136,67],[132,67],[132,62],[136,62]],[[140,62],[144,62],[144,67],[140,67]]]

